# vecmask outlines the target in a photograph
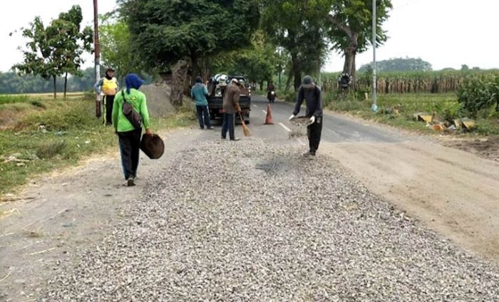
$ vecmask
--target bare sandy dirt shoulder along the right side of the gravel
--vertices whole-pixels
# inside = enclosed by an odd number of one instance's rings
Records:
[[[434,142],[324,142],[320,149],[381,199],[499,264],[499,162]]]

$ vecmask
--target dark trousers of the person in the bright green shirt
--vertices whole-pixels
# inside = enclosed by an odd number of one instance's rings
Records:
[[[121,165],[125,179],[137,176],[142,128],[128,132],[118,132],[120,141]]]

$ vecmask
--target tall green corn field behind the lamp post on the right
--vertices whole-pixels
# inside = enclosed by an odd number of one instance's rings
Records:
[[[427,71],[407,73],[381,73],[377,76],[378,93],[451,93],[458,89],[466,78],[473,75],[494,74],[492,71]],[[339,73],[323,73],[322,89],[339,89]],[[372,74],[357,73],[356,90],[371,91]]]

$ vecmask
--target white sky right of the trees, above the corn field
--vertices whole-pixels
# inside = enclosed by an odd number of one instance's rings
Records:
[[[392,0],[384,28],[389,40],[376,49],[378,61],[421,58],[434,70],[499,68],[499,0]],[[373,60],[372,48],[356,57],[359,68]],[[339,71],[334,54],[323,71]]]

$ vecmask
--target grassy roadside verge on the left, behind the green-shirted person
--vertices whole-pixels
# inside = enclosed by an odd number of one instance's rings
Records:
[[[102,125],[95,117],[93,100],[81,94],[66,100],[30,95],[21,102],[1,104],[0,113],[9,120],[0,130],[0,195],[31,177],[76,165],[83,157],[118,146],[113,128]],[[151,118],[151,127],[153,131],[165,130],[192,121],[192,110],[185,106],[170,118]]]

